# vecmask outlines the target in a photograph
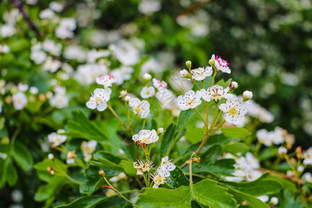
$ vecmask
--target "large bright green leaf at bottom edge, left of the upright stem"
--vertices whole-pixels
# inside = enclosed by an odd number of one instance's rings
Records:
[[[179,187],[175,190],[170,189],[143,189],[144,193],[139,195],[135,205],[144,208],[170,207],[184,208],[191,206],[191,193],[189,187]]]

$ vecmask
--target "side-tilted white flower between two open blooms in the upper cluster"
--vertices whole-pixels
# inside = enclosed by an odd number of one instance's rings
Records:
[[[208,87],[208,89],[200,89],[200,93],[202,94],[202,98],[209,102],[214,100],[215,102],[220,101],[222,98],[231,98],[232,94],[227,94],[229,92],[229,87],[223,89],[220,85],[214,85],[212,87]]]

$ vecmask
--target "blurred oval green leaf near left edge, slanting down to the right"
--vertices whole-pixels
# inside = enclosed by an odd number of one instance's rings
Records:
[[[29,171],[33,168],[33,157],[26,146],[20,142],[15,142],[12,149],[12,156],[15,159],[15,162],[17,162],[17,164],[25,171]]]

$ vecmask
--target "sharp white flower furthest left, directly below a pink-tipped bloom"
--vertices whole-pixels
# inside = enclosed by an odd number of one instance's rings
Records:
[[[107,107],[107,101],[110,100],[110,94],[112,93],[112,89],[94,89],[94,94],[91,96],[89,101],[87,101],[86,105],[90,109],[97,109],[98,111],[103,111]]]

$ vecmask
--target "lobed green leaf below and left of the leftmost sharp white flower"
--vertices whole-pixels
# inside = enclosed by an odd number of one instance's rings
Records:
[[[68,132],[64,135],[71,137],[80,137],[89,140],[103,141],[107,140],[107,135],[93,121],[89,121],[88,117],[81,110],[73,110],[73,121],[68,121]]]

